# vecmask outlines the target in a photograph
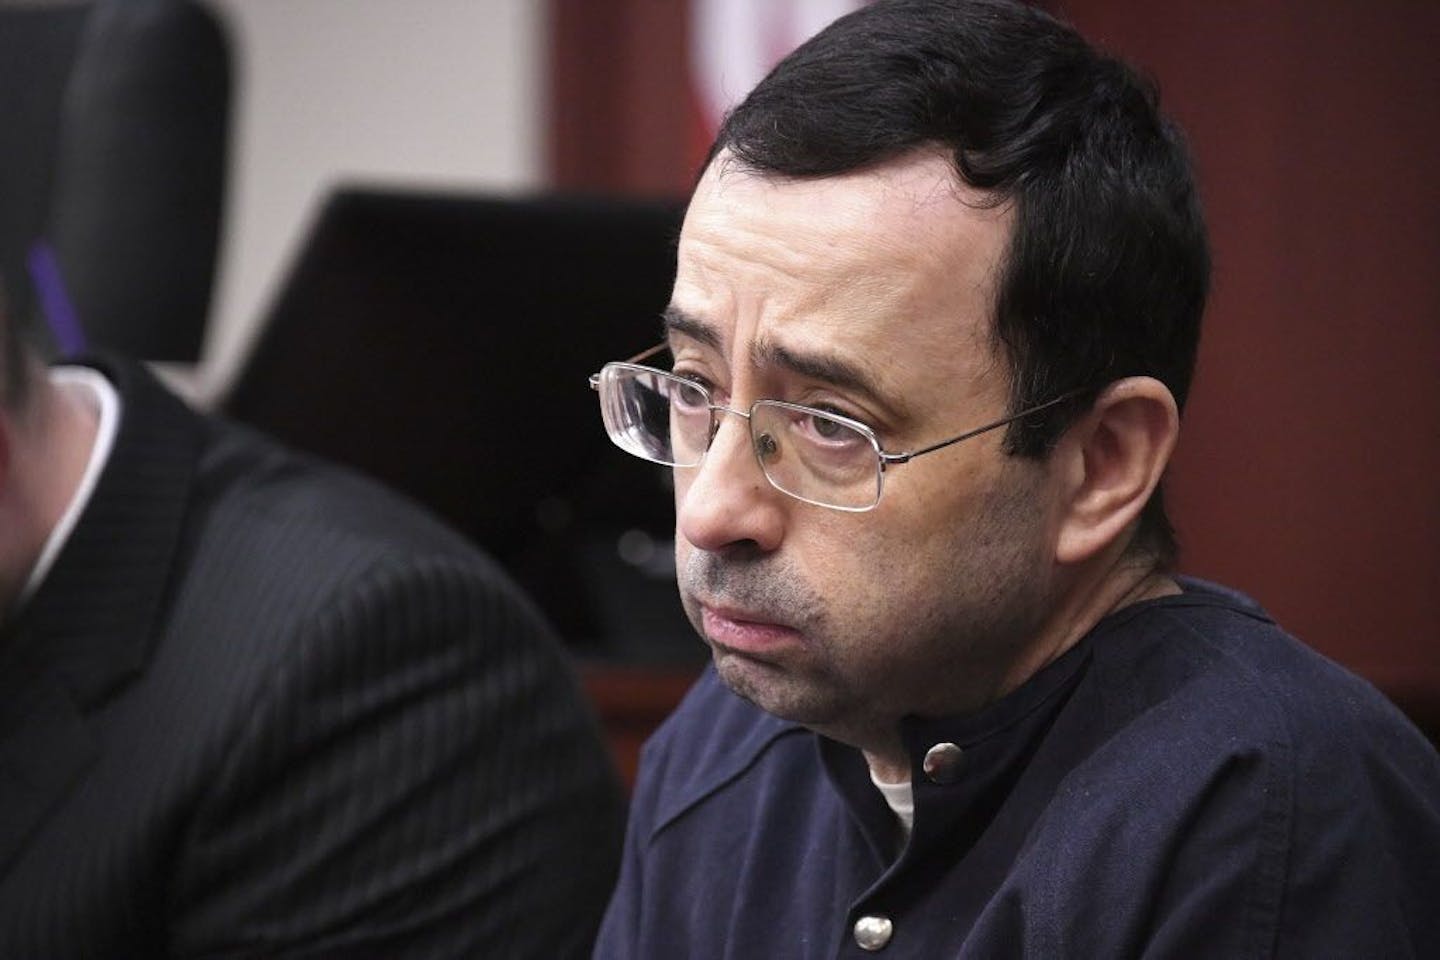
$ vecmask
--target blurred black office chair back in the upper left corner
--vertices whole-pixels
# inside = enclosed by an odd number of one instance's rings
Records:
[[[196,0],[0,6],[0,271],[59,353],[199,357],[229,107]]]

